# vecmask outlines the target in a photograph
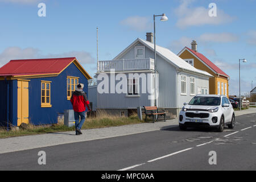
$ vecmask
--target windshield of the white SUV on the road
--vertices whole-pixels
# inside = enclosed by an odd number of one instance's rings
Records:
[[[220,97],[201,97],[196,96],[192,98],[189,102],[189,105],[198,105],[198,106],[218,106],[220,105]]]

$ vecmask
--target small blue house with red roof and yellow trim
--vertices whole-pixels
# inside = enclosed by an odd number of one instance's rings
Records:
[[[57,123],[72,109],[76,85],[84,84],[87,93],[91,78],[76,57],[11,60],[0,68],[0,125]]]

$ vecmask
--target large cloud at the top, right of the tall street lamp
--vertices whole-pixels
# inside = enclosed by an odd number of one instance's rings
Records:
[[[217,16],[210,17],[208,7],[191,7],[193,1],[181,1],[181,5],[175,10],[175,14],[178,17],[176,26],[179,28],[186,28],[190,26],[202,26],[204,24],[224,24],[234,20],[234,18],[228,14],[225,14],[223,10],[217,6]]]

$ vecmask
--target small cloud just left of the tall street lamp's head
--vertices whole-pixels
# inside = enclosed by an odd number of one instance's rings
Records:
[[[120,24],[135,31],[147,31],[151,28],[150,18],[143,16],[130,16],[122,20]]]

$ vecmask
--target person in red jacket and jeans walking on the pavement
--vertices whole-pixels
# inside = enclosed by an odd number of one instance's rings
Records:
[[[81,135],[81,128],[85,122],[85,109],[86,106],[88,111],[90,111],[89,101],[87,100],[86,93],[82,90],[84,84],[78,84],[75,92],[72,93],[71,103],[73,105],[75,122],[76,122],[76,135]],[[79,118],[81,121],[79,122]]]

